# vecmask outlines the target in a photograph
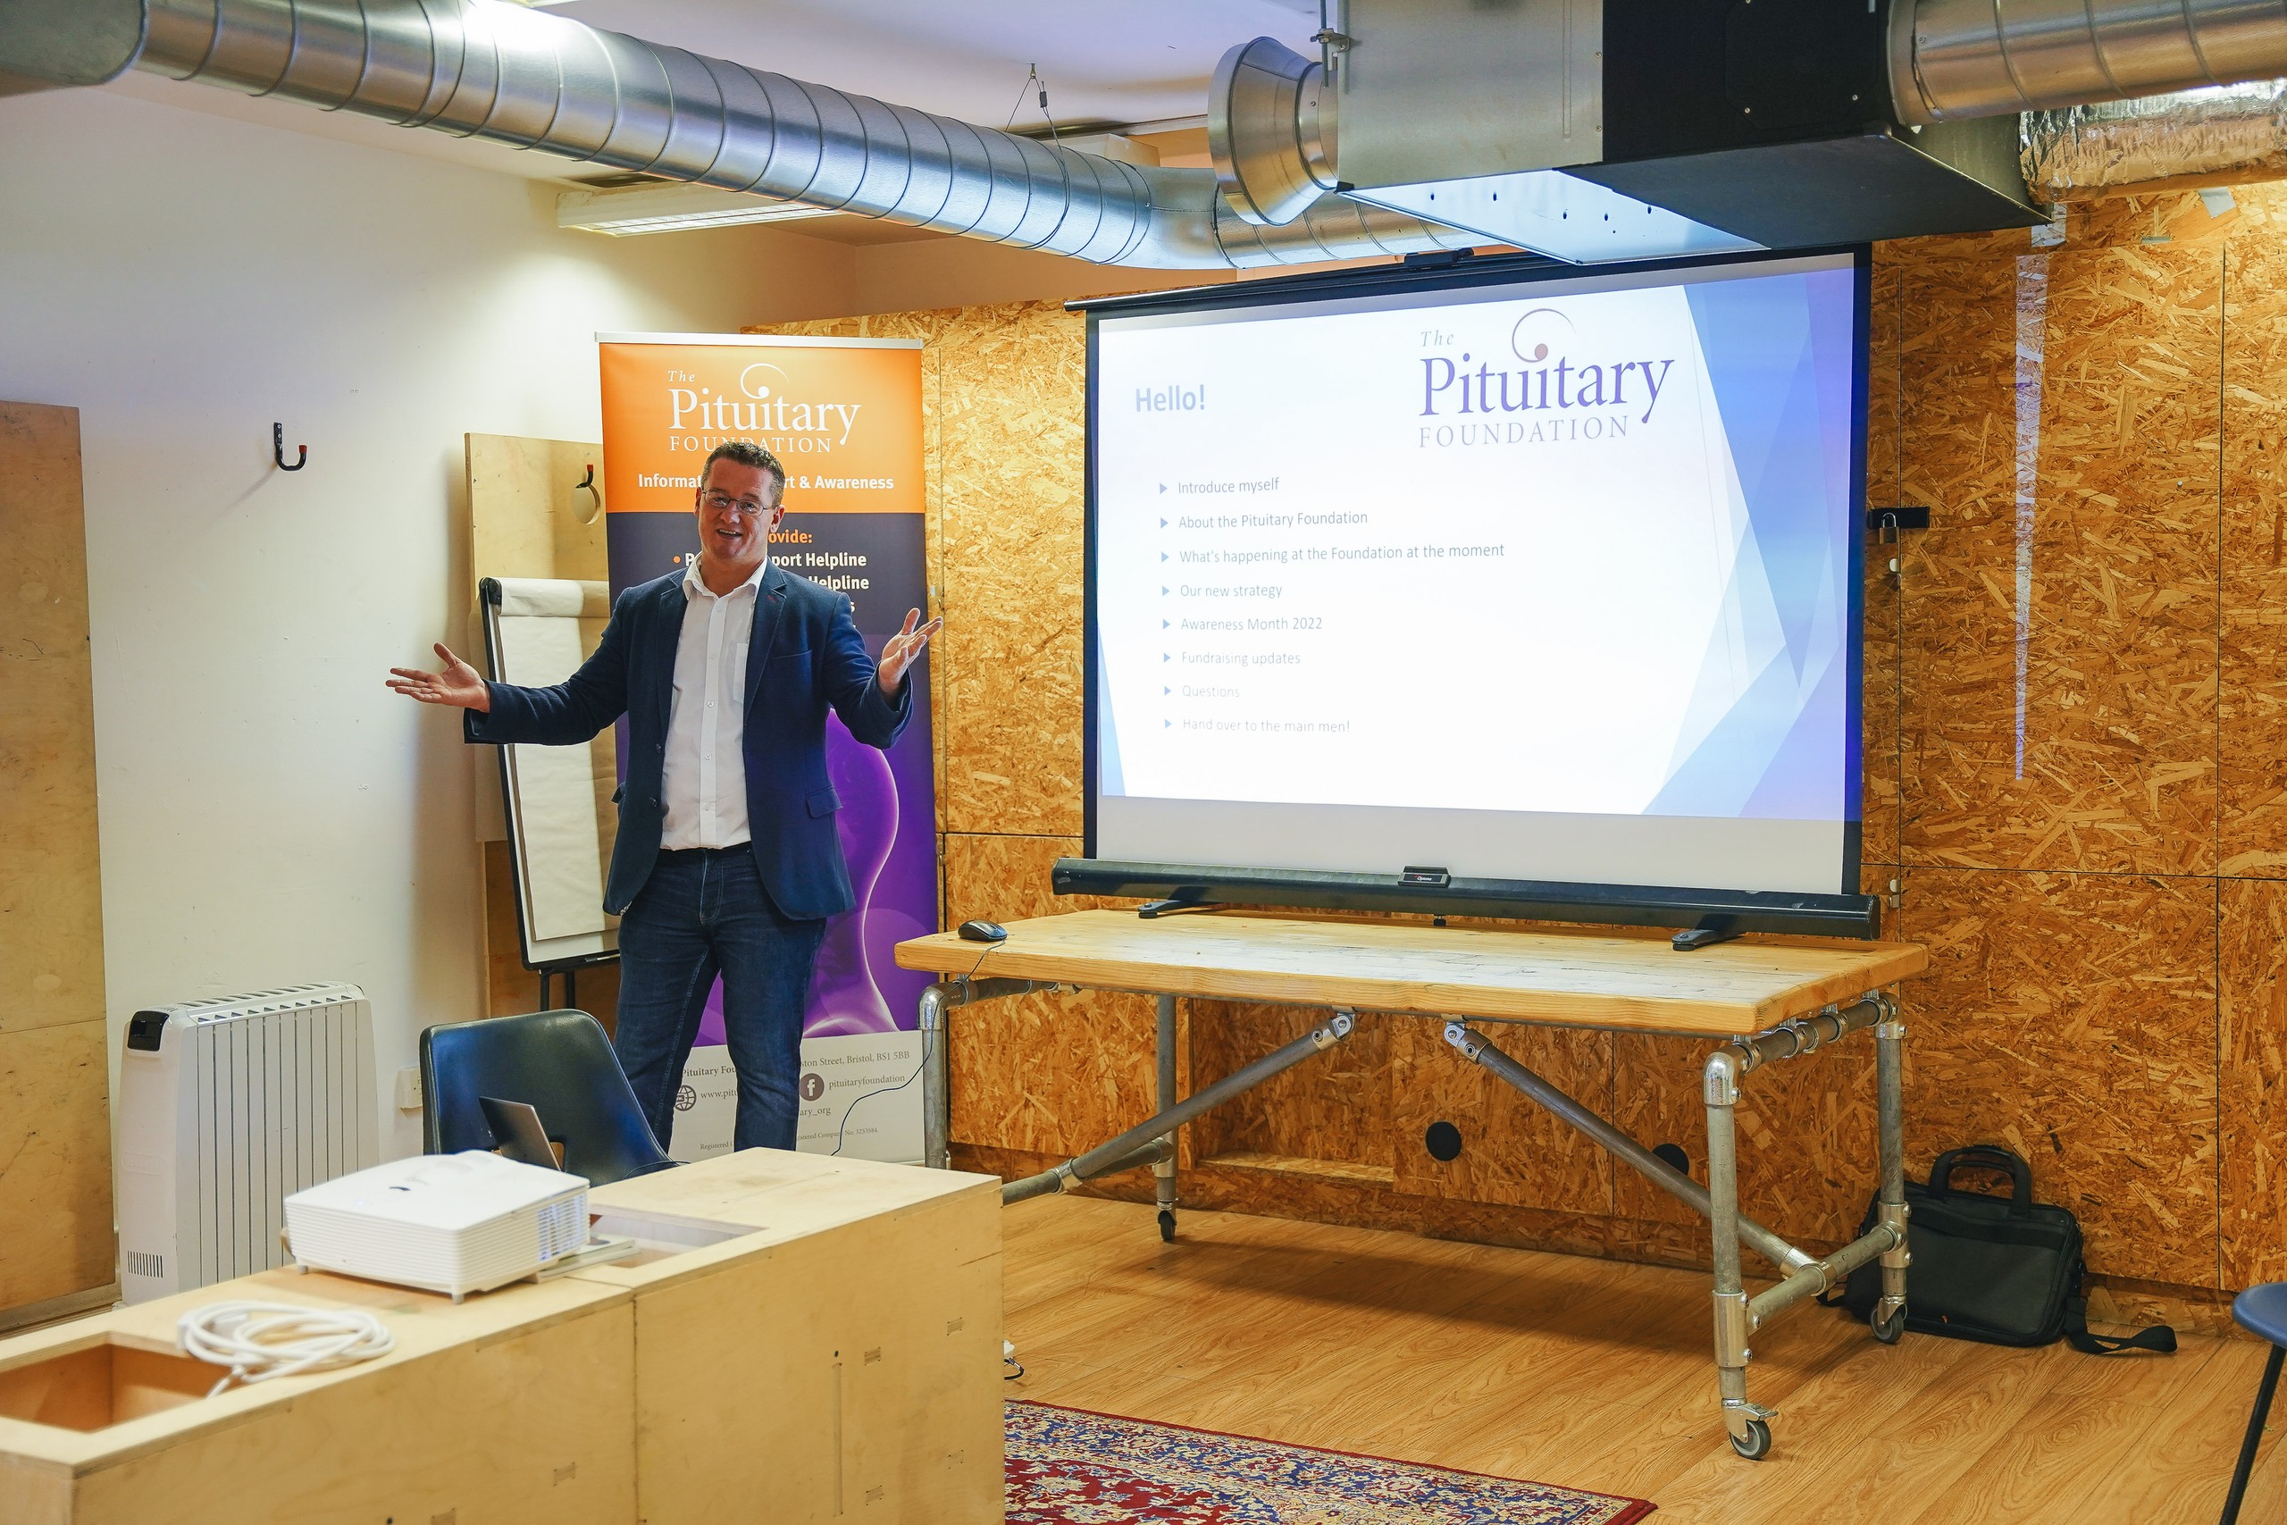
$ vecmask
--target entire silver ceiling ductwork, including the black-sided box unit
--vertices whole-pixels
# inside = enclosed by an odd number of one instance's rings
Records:
[[[2287,75],[2287,0],[1349,0],[1326,39],[1333,85],[1226,57],[1217,171],[501,0],[0,0],[0,89],[133,66],[1107,265],[1642,258],[2040,222],[2008,117]]]

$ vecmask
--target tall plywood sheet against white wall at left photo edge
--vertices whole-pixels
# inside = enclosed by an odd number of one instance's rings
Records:
[[[0,1223],[39,1225],[0,1235],[0,1326],[114,1267],[80,512],[78,409],[0,402]]]

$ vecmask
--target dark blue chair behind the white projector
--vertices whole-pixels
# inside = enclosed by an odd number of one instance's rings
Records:
[[[421,1033],[421,1148],[489,1150],[501,1141],[478,1097],[526,1102],[565,1150],[565,1171],[604,1187],[675,1161],[643,1120],[604,1024],[585,1011],[444,1022]]]

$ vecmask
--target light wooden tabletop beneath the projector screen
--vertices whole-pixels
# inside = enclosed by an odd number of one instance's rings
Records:
[[[1745,937],[1676,953],[1667,933],[1477,931],[1418,921],[1075,910],[1009,924],[1009,942],[933,933],[903,969],[1041,979],[1224,1001],[1736,1038],[1921,974],[1912,942]]]

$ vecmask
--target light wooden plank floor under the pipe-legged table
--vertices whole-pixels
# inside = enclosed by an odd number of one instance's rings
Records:
[[[1695,1271],[1217,1212],[1166,1246],[1150,1207],[1068,1196],[1006,1235],[1011,1397],[1649,1498],[1665,1525],[2214,1520],[2264,1358],[1882,1347],[1800,1308],[1754,1342],[1779,1420],[1750,1463]],[[2287,1518],[2271,1445],[2241,1518]]]

